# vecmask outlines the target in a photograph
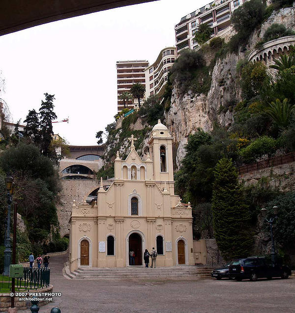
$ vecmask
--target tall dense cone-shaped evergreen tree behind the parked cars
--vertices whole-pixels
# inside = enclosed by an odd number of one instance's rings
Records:
[[[237,172],[231,160],[221,159],[214,171],[213,228],[221,255],[226,260],[249,256],[252,249],[250,214]]]

